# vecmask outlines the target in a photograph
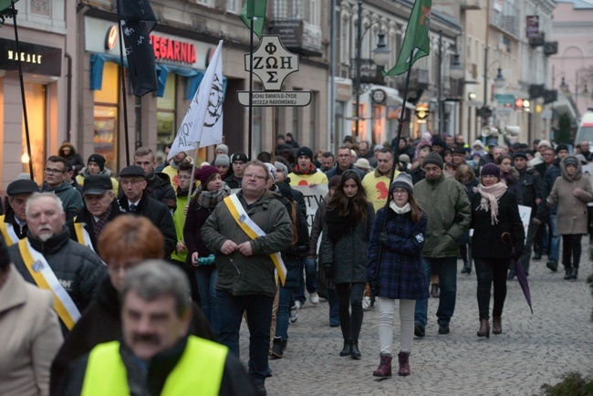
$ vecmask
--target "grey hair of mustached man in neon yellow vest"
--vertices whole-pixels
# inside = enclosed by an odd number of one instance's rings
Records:
[[[190,282],[181,269],[164,260],[146,260],[132,268],[123,279],[120,300],[133,291],[145,301],[154,301],[162,296],[175,298],[177,315],[182,316],[190,308]]]

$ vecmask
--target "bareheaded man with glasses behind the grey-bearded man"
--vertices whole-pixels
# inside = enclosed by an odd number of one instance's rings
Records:
[[[47,159],[46,169],[44,170],[45,182],[41,186],[44,193],[55,193],[62,202],[66,221],[69,222],[82,209],[82,197],[80,193],[72,187],[72,184],[65,180],[65,173],[68,170],[68,163],[62,157],[52,155]]]

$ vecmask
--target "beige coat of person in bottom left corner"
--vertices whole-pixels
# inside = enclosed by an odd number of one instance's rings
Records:
[[[62,345],[62,331],[47,290],[25,282],[10,266],[0,287],[0,394],[49,394],[49,368]]]

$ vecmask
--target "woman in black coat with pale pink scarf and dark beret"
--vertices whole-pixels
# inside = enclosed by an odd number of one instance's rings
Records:
[[[478,193],[472,197],[472,255],[478,279],[478,308],[480,329],[478,337],[490,337],[490,289],[494,284],[492,310],[494,334],[503,332],[502,315],[506,298],[506,273],[510,260],[521,258],[525,230],[519,216],[515,194],[501,181],[500,168],[487,163],[480,172]],[[511,243],[502,234],[511,234]]]

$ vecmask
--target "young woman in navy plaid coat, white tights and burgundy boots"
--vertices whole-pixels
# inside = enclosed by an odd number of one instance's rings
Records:
[[[379,280],[380,365],[375,377],[391,376],[391,344],[395,300],[400,300],[401,376],[410,375],[409,357],[414,335],[416,300],[428,298],[428,279],[422,265],[421,250],[426,232],[426,214],[414,200],[411,176],[400,173],[390,186],[389,209],[377,212],[370,232],[367,278],[371,284]],[[383,223],[387,216],[387,227]],[[380,263],[379,250],[382,245]]]

